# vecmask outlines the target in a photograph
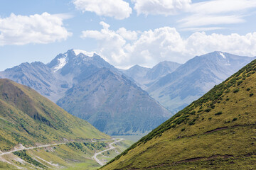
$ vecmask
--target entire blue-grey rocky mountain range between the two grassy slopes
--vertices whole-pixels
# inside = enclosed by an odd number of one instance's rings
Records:
[[[0,77],[30,86],[109,135],[142,135],[253,59],[211,52],[184,64],[124,70],[95,53],[68,50],[48,64],[23,63]]]

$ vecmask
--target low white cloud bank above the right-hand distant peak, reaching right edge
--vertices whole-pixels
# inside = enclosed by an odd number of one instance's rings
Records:
[[[213,33],[193,33],[186,39],[188,52],[194,55],[203,55],[211,51],[230,52],[235,55],[256,55],[256,32],[239,35],[233,33],[222,35]]]

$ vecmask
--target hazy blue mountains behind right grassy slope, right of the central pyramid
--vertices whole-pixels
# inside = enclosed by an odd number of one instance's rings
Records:
[[[184,64],[161,62],[152,69],[139,67],[138,71],[144,70],[142,77],[138,77],[137,72],[133,72],[138,66],[125,70],[124,74],[137,81],[139,86],[171,113],[176,113],[254,59],[255,57],[216,51],[193,57]],[[161,64],[164,63],[165,66],[169,65],[169,70],[154,74],[158,75],[156,79],[149,79],[148,75],[157,67],[163,68]]]

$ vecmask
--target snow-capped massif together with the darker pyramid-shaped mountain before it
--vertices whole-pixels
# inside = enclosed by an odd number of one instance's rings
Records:
[[[68,50],[48,64],[23,63],[0,76],[31,86],[108,134],[146,134],[171,117],[119,70],[82,50]]]

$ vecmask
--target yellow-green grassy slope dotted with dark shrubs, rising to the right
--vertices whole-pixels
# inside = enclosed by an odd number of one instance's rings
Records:
[[[256,60],[102,169],[256,169]]]

